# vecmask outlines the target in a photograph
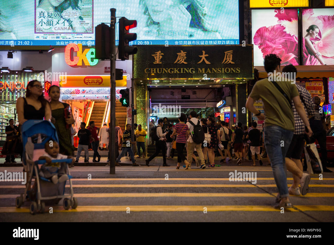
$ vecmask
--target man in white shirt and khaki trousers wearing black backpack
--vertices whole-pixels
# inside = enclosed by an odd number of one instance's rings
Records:
[[[204,131],[202,128],[201,121],[199,121],[196,118],[196,116],[197,116],[197,113],[195,111],[191,111],[190,120],[187,122],[189,134],[190,134],[190,137],[188,137],[187,156],[188,156],[189,164],[191,165],[192,155],[194,154],[194,149],[196,149],[199,160],[201,161],[200,169],[204,169],[206,166],[205,166],[204,155],[203,155],[202,146],[201,146],[204,141]],[[197,127],[197,126],[200,126],[200,127]],[[197,142],[195,142],[194,140]]]

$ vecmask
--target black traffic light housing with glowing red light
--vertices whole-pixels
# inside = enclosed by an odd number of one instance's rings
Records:
[[[131,28],[137,26],[137,21],[121,17],[119,22],[118,58],[120,60],[128,60],[129,55],[137,54],[137,48],[129,46],[129,42],[137,39],[136,33],[129,33]]]

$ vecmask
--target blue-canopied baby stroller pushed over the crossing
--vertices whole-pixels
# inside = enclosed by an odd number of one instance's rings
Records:
[[[73,197],[72,176],[69,175],[67,165],[67,163],[72,162],[72,159],[52,160],[52,162],[60,163],[66,169],[70,184],[70,194],[64,194],[67,181],[53,184],[49,179],[43,178],[38,174],[39,167],[46,162],[45,160],[38,160],[45,153],[44,144],[49,140],[58,142],[58,135],[53,124],[43,120],[28,120],[22,125],[21,137],[24,146],[22,163],[24,171],[29,173],[29,179],[24,193],[16,198],[16,207],[20,208],[25,201],[30,201],[31,214],[36,212],[43,213],[45,204],[58,204],[64,198],[64,209],[68,210],[70,206],[75,209],[78,203],[76,198]],[[35,181],[34,187],[28,191],[33,178]]]

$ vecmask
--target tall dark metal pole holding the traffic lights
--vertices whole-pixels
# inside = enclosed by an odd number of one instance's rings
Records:
[[[109,137],[109,160],[110,174],[115,174],[116,142],[115,142],[115,119],[116,119],[116,9],[110,9],[110,137]]]

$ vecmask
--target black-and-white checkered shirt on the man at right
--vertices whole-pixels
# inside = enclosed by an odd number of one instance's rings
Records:
[[[306,88],[297,85],[296,87],[298,89],[299,94],[303,97],[305,104],[302,101],[302,104],[304,106],[304,109],[306,111],[307,116],[313,117],[315,115],[314,111],[314,103],[312,101],[312,96],[309,93],[309,91],[306,90]],[[296,107],[292,101],[292,110],[293,110],[293,115],[295,117],[295,132],[294,134],[304,134],[305,132],[305,124],[303,123],[302,118],[298,115],[298,112],[296,110]]]

